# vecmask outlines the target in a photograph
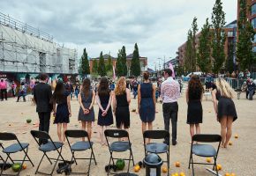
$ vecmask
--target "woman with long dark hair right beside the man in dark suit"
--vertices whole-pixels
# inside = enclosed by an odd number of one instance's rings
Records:
[[[57,136],[59,141],[64,143],[64,132],[67,129],[67,123],[70,122],[72,111],[70,93],[65,91],[64,83],[62,81],[57,82],[51,102],[53,104],[53,115],[55,116],[54,124],[57,124]]]

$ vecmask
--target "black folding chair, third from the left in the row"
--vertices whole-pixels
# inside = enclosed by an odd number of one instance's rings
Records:
[[[90,142],[90,138],[88,137],[88,133],[85,130],[66,130],[65,131],[65,136],[67,139],[67,142],[69,143],[70,149],[72,151],[72,161],[71,161],[71,165],[73,160],[75,161],[76,165],[78,165],[77,163],[77,159],[89,159],[89,168],[87,172],[72,172],[72,173],[78,173],[78,174],[88,174],[90,175],[90,168],[91,168],[91,163],[92,163],[92,159],[94,159],[94,163],[95,165],[97,165],[95,156],[94,156],[94,150],[93,150],[93,142]],[[71,145],[70,141],[69,141],[69,137],[72,138],[81,138],[81,137],[87,137],[87,141],[79,141],[76,143],[73,143]],[[91,157],[90,158],[75,158],[75,151],[85,151],[85,150],[91,150]]]

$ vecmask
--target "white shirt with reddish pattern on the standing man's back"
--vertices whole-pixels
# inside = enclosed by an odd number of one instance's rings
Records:
[[[168,77],[161,84],[161,98],[163,103],[177,102],[180,97],[180,85],[172,77]]]

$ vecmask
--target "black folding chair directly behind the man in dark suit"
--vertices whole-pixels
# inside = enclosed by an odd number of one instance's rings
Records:
[[[41,174],[46,174],[46,175],[52,175],[52,173],[54,172],[54,169],[56,167],[56,163],[58,161],[64,161],[64,158],[61,155],[62,147],[63,147],[64,143],[53,142],[51,137],[49,136],[49,134],[47,132],[45,132],[45,131],[31,130],[30,133],[34,137],[35,142],[39,145],[38,149],[43,152],[43,155],[41,157],[39,165],[36,168],[35,174],[36,173],[41,173]],[[40,145],[39,140],[49,140],[49,143],[45,143],[45,144],[41,144]],[[49,151],[56,151],[58,153],[57,158],[49,158],[49,156],[47,155],[47,152],[49,152]],[[41,165],[41,161],[42,161],[42,159],[44,157],[48,158],[50,165],[52,165],[51,160],[55,160],[56,161],[56,163],[54,164],[53,169],[52,169],[52,171],[50,173],[39,172],[38,171],[39,167]]]

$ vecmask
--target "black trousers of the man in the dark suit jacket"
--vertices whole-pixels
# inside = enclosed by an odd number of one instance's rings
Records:
[[[38,113],[39,116],[39,130],[40,131],[45,131],[49,133],[49,120],[50,120],[50,112],[45,112],[45,113]],[[39,143],[48,143],[47,139],[39,139]]]

